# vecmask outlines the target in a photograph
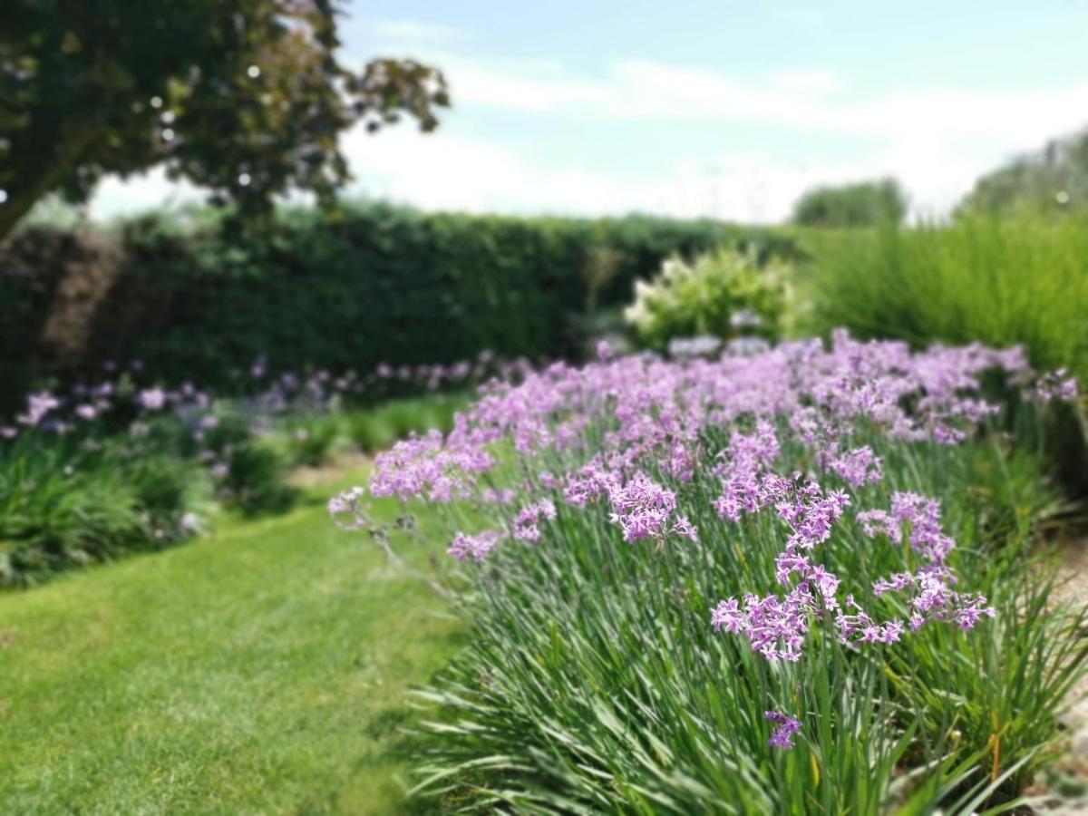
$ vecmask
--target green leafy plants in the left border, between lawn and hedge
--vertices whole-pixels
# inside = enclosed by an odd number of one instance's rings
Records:
[[[118,390],[127,387],[121,380]],[[410,433],[448,431],[466,399],[296,407],[275,417],[224,399],[195,416],[98,421],[64,435],[25,430],[0,441],[0,586],[181,542],[206,529],[217,507],[283,512],[299,496],[292,468],[329,465],[353,444],[372,452]]]

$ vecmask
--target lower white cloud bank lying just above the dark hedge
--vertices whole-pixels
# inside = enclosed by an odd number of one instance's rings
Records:
[[[408,129],[370,137],[359,131],[345,151],[361,182],[354,191],[423,209],[530,214],[654,212],[770,223],[817,184],[855,181],[880,163],[819,168],[783,162],[763,150],[684,160],[636,178],[576,160],[544,166],[493,143]]]

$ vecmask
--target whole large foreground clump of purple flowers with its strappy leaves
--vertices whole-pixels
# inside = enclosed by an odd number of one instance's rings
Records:
[[[445,512],[472,621],[425,693],[445,716],[419,790],[527,813],[1016,806],[1088,644],[1029,554],[1055,495],[991,430],[994,368],[1039,410],[1073,395],[1016,349],[602,349],[380,455],[371,494]],[[362,489],[330,510],[370,526]]]

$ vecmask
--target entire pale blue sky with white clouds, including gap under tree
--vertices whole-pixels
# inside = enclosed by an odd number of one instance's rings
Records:
[[[342,149],[347,195],[424,209],[789,217],[813,186],[891,175],[915,217],[1088,125],[1088,0],[370,0],[342,57],[412,57],[453,108]],[[108,180],[108,218],[199,197]]]

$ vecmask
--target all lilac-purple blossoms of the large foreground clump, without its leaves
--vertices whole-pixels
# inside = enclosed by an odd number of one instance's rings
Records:
[[[487,383],[446,437],[413,437],[379,456],[370,491],[474,500],[489,529],[457,532],[449,546],[472,561],[502,541],[546,540],[544,522],[564,505],[593,514],[617,540],[658,546],[670,536],[697,542],[689,519],[713,510],[781,535],[774,556],[780,594],[721,601],[710,610],[716,631],[744,638],[776,664],[801,660],[817,628],[851,648],[894,644],[929,621],[970,629],[994,613],[985,597],[955,589],[954,542],[936,499],[900,492],[887,509],[864,507],[883,479],[874,447],[961,442],[998,410],[980,396],[992,369],[1039,397],[1075,393],[1062,375],[1036,378],[1019,349],[980,345],[912,353],[836,332],[830,347],[784,343],[716,359],[615,356],[602,347],[580,368],[558,362],[518,383]],[[507,467],[511,458],[516,468]],[[809,470],[794,472],[783,460]],[[902,553],[905,571],[871,585],[830,571],[820,555],[855,530],[871,546]],[[716,537],[704,531],[705,545]],[[888,593],[901,598],[893,604]],[[894,614],[879,611],[892,606]],[[770,744],[791,747],[800,721],[766,716],[775,725]]]

